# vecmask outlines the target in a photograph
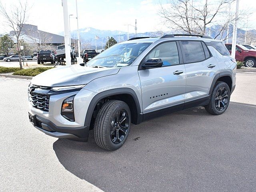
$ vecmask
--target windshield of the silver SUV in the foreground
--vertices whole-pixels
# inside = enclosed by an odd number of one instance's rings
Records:
[[[134,60],[152,43],[116,44],[87,62],[88,67],[124,67]]]

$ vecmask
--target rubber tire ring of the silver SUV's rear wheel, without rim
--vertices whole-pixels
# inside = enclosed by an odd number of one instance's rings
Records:
[[[215,107],[215,96],[220,87],[225,87],[228,90],[228,103],[226,104],[226,107],[221,111],[217,110]],[[212,110],[214,111],[214,113],[216,115],[220,115],[227,110],[229,102],[230,102],[230,88],[229,88],[228,84],[226,84],[225,82],[219,82],[218,84],[216,84],[216,86],[214,87],[214,89],[212,91],[212,96],[210,99]]]

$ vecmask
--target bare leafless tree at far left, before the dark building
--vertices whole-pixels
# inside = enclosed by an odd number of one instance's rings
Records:
[[[16,4],[10,4],[9,8],[6,8],[0,1],[0,14],[6,19],[4,21],[5,26],[13,29],[13,35],[17,39],[17,51],[20,57],[20,36],[23,35],[23,28],[26,26],[28,19],[28,2],[21,2],[20,0]],[[22,63],[20,58],[20,69],[22,69]]]

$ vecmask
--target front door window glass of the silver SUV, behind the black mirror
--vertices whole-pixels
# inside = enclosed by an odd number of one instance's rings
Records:
[[[166,42],[156,46],[148,56],[146,56],[146,61],[151,58],[160,58],[163,61],[163,67],[172,66],[174,64],[179,64],[179,54],[176,42]]]

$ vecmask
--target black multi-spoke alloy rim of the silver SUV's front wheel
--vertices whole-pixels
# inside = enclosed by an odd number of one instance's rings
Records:
[[[129,128],[129,116],[126,110],[122,109],[114,115],[111,128],[110,139],[114,144],[119,144],[124,140]]]

